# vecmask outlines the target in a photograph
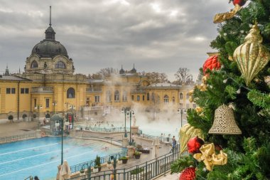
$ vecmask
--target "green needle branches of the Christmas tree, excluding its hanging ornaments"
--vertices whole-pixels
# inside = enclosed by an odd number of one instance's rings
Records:
[[[196,179],[270,179],[270,88],[266,83],[270,63],[247,85],[237,62],[232,60],[234,50],[244,43],[255,23],[263,38],[261,44],[270,50],[270,0],[247,3],[236,16],[219,24],[219,36],[210,46],[220,52],[222,68],[207,70],[207,90],[197,87],[193,92],[193,99],[203,111],[199,115],[188,110],[188,123],[202,130],[205,142],[219,144],[228,155],[227,164],[214,166],[212,171],[205,171],[205,164],[197,162]],[[215,110],[223,104],[234,107],[234,118],[242,134],[208,134]],[[178,170],[185,168],[188,161],[190,157],[176,163]]]

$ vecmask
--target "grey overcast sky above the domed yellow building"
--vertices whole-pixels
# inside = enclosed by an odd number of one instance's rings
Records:
[[[52,6],[55,40],[73,59],[75,73],[101,68],[166,73],[198,69],[213,52],[217,13],[227,0],[0,0],[0,73],[23,70],[33,46],[45,38]],[[197,77],[194,77],[197,78]]]

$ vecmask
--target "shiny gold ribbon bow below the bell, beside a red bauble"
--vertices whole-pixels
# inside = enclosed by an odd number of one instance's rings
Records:
[[[203,161],[205,163],[206,169],[212,171],[214,165],[224,165],[227,164],[227,154],[220,150],[220,154],[215,154],[215,145],[203,144],[200,147],[200,152],[193,155],[198,162]]]

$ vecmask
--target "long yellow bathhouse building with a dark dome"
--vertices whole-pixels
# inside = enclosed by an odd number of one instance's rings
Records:
[[[111,110],[139,105],[145,110],[194,108],[188,101],[193,86],[149,84],[133,68],[105,80],[87,80],[74,74],[72,58],[50,26],[45,39],[33,47],[23,73],[0,75],[0,120],[35,120],[54,113],[72,113],[77,118],[99,117]]]

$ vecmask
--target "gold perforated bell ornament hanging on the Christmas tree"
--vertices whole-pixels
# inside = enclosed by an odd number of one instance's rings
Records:
[[[209,134],[242,134],[234,120],[234,112],[227,105],[221,105],[215,110],[215,119]]]

